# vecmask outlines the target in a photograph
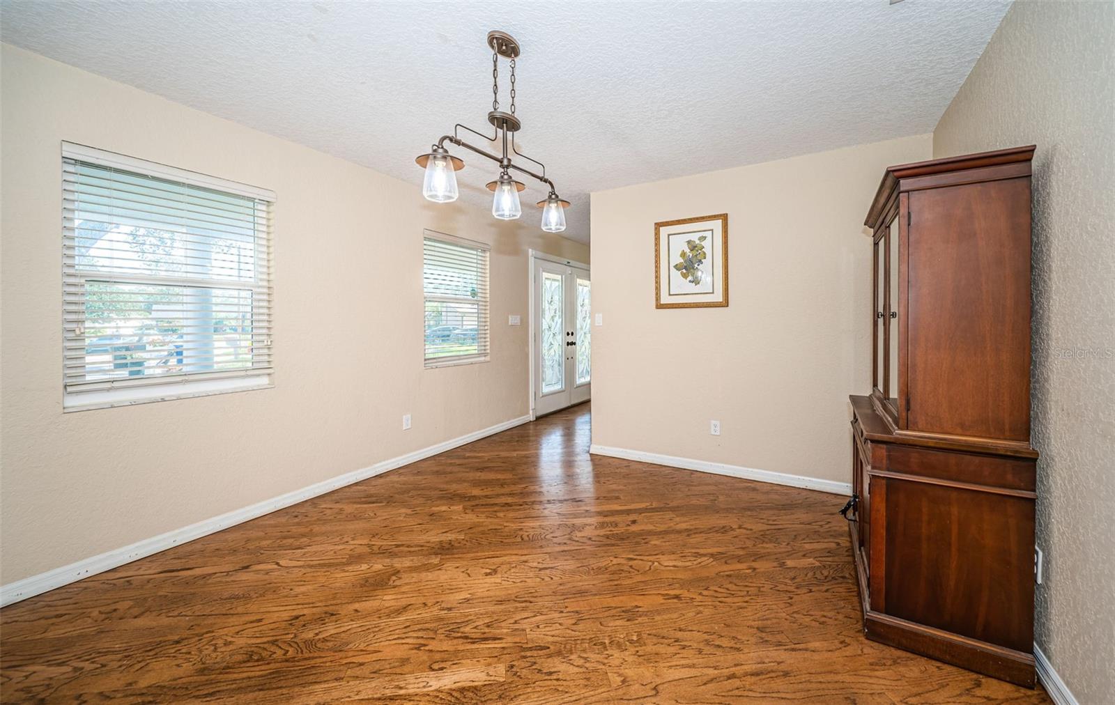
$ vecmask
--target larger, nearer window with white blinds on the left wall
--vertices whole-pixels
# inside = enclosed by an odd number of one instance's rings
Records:
[[[269,386],[273,201],[65,143],[65,408]]]

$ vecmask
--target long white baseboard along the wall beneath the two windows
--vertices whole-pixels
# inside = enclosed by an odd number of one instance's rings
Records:
[[[288,492],[287,494],[258,502],[251,506],[245,506],[243,509],[221,514],[220,516],[206,519],[205,521],[200,521],[182,529],[168,531],[157,537],[152,537],[151,539],[144,539],[143,541],[137,541],[132,545],[125,545],[124,548],[108,551],[99,556],[79,560],[70,563],[69,566],[62,566],[61,568],[48,570],[47,572],[31,576],[30,578],[23,578],[22,580],[17,580],[16,582],[9,585],[0,586],[0,607],[11,605],[12,602],[18,602],[20,600],[26,600],[29,597],[41,595],[48,590],[60,588],[64,585],[76,582],[83,578],[88,578],[89,576],[95,576],[106,570],[112,570],[113,568],[117,568],[125,563],[130,563],[132,561],[139,560],[140,558],[146,558],[147,556],[174,548],[181,543],[186,543],[188,541],[193,541],[194,539],[200,539],[211,533],[221,531],[222,529],[227,529],[229,527],[234,527],[258,516],[262,516],[263,514],[270,514],[273,511],[290,506],[291,504],[298,504],[299,502],[316,498],[319,494],[332,492],[333,490],[343,487],[345,485],[350,485],[353,482],[360,482],[361,480],[374,477],[386,473],[389,470],[395,470],[396,467],[409,465],[410,463],[427,458],[432,455],[452,451],[457,446],[472,443],[473,441],[479,441],[481,438],[497,434],[501,431],[520,426],[529,423],[530,421],[531,417],[529,415],[520,416],[518,418],[513,418],[511,421],[503,422],[502,424],[496,424],[495,426],[489,426],[487,428],[453,438],[452,441],[438,443],[437,445],[432,445],[429,447],[415,451],[414,453],[407,453],[406,455],[392,457],[390,460],[376,463],[375,465],[355,470],[350,473],[324,480],[308,487],[302,487],[301,490],[294,490],[293,492]]]

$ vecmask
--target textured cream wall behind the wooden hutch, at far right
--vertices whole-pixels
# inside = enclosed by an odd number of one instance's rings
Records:
[[[1036,638],[1080,703],[1115,702],[1115,3],[1016,2],[933,155],[1037,144]]]

